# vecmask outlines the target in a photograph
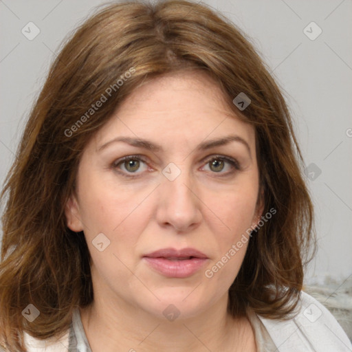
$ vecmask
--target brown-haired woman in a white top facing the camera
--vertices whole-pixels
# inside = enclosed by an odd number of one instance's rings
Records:
[[[52,65],[3,189],[4,351],[349,351],[301,291],[301,162],[232,23],[104,8]]]

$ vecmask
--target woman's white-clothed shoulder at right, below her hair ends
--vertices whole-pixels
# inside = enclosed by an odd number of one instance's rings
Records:
[[[301,291],[290,320],[258,318],[279,352],[351,352],[352,344],[338,321],[316,298]]]

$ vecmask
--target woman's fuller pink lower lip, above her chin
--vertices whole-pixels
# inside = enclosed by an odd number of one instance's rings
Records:
[[[187,278],[195,274],[208,260],[207,258],[192,258],[180,261],[171,261],[165,258],[151,258],[144,256],[153,269],[169,278]]]

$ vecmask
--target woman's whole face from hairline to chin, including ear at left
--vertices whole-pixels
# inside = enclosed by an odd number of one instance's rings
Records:
[[[95,299],[179,318],[227,301],[258,194],[254,129],[212,80],[168,75],[136,89],[85,148],[67,202]]]

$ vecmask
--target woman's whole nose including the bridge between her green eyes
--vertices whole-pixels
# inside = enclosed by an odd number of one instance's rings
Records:
[[[199,199],[195,196],[192,174],[184,165],[168,165],[159,187],[158,221],[186,230],[201,219]]]

